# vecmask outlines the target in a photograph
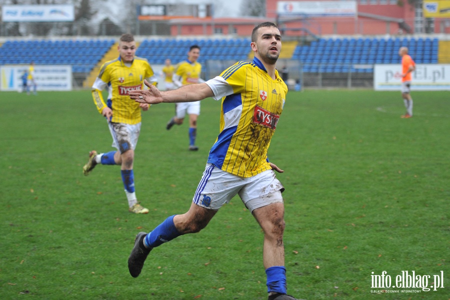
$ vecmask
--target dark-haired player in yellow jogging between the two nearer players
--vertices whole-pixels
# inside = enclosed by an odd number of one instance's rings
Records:
[[[176,87],[204,82],[200,78],[201,64],[197,62],[199,56],[200,47],[197,45],[190,46],[189,52],[187,52],[187,60],[178,63],[173,75],[173,83]],[[170,129],[174,124],[181,125],[187,113],[189,115],[189,150],[198,150],[195,145],[195,138],[197,135],[197,119],[200,114],[200,101],[177,103],[175,107],[175,116],[167,122],[166,129]]]

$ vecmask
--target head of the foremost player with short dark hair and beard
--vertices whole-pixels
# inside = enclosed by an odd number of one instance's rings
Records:
[[[258,29],[255,42],[251,42],[251,48],[258,58],[266,63],[274,64],[281,51],[281,34],[276,27],[261,27]]]

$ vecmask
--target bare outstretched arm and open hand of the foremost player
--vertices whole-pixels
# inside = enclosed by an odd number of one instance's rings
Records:
[[[188,84],[173,90],[160,91],[154,85],[144,80],[148,89],[138,89],[129,92],[129,97],[139,103],[157,104],[161,102],[193,102],[212,97],[214,93],[206,83]]]

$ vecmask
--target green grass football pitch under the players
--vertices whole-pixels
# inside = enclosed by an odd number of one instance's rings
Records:
[[[412,92],[289,92],[269,148],[284,169],[288,293],[315,299],[447,299],[450,292],[450,97]],[[0,299],[266,299],[262,237],[238,197],[197,234],[155,248],[132,278],[138,231],[185,212],[218,133],[220,103],[204,100],[199,151],[173,104],[143,113],[136,194],[127,210],[118,166],[85,177],[89,150],[111,137],[90,91],[0,93]],[[376,293],[372,272],[443,271],[430,291]],[[387,276],[386,276],[387,277]],[[423,281],[424,282],[424,281]]]

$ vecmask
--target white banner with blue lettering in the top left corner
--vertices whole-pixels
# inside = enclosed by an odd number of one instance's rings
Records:
[[[71,4],[2,5],[3,22],[61,22],[73,21],[75,12]]]

